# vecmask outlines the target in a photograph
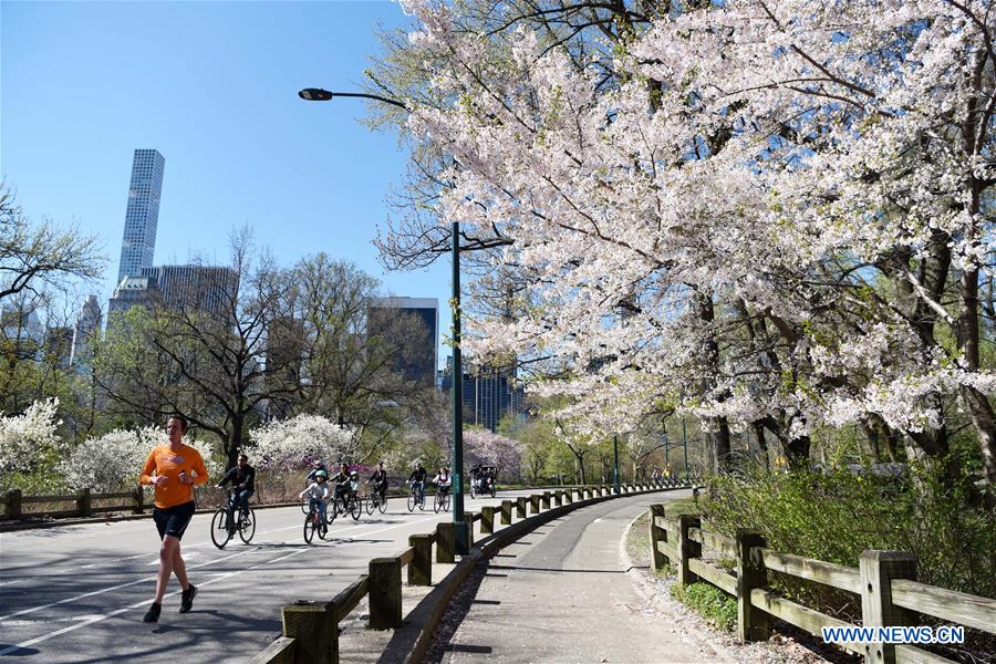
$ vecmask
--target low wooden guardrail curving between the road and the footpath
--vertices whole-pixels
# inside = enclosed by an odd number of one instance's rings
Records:
[[[678,480],[621,485],[622,494],[687,487]],[[584,500],[612,495],[612,487],[570,487],[502,500],[500,507],[484,506],[479,511],[465,512],[470,548],[474,547],[474,525],[480,523],[480,535],[495,532],[495,515],[501,525],[511,523],[512,508],[517,518],[525,519],[526,505],[552,509],[575,499]],[[374,630],[390,630],[402,624],[402,570],[407,568],[408,585],[433,584],[433,547],[437,563],[456,561],[454,525],[444,521],[435,532],[408,537],[408,548],[397,556],[375,558],[370,561],[367,573],[346,587],[328,602],[297,602],[283,608],[283,635],[256,655],[250,664],[294,664],[302,662],[339,662],[339,623],[369,596],[369,623]]]

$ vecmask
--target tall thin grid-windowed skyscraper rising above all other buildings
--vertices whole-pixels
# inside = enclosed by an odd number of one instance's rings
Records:
[[[152,267],[153,253],[156,250],[156,226],[159,220],[159,196],[163,193],[165,165],[166,159],[158,151],[135,151],[117,283],[125,277],[138,277],[142,268]]]

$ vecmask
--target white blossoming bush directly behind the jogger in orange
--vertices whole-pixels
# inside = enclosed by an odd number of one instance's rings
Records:
[[[60,465],[65,483],[75,489],[90,487],[94,491],[115,491],[134,487],[152,449],[168,444],[162,427],[115,429],[98,438],[81,443]],[[204,440],[184,438],[204,458],[211,478],[217,479],[221,465],[215,460],[214,450]]]

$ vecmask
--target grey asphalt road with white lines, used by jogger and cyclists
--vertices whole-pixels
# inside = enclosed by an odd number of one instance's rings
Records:
[[[470,500],[497,505],[529,491]],[[210,515],[196,515],[183,539],[194,610],[179,614],[174,578],[156,624],[152,602],[158,535],[152,519],[64,526],[0,535],[0,660],[11,662],[246,662],[280,633],[280,609],[329,600],[365,573],[371,558],[400,553],[408,536],[430,532],[449,513],[409,513],[392,498],[387,513],[340,517],[326,541],[305,544],[300,508],[257,511],[250,544],[218,550]]]

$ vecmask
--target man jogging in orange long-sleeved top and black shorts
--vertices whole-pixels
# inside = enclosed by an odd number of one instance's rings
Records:
[[[159,531],[159,571],[156,574],[156,596],[145,612],[143,622],[157,622],[163,611],[163,595],[169,577],[176,574],[183,593],[180,613],[194,606],[195,587],[187,579],[187,567],[180,553],[180,539],[194,516],[194,487],[206,484],[207,468],[200,453],[184,444],[187,419],[183,415],[172,415],[166,421],[166,437],[169,442],[153,448],[138,478],[141,485],[154,485],[156,489],[153,520]]]

